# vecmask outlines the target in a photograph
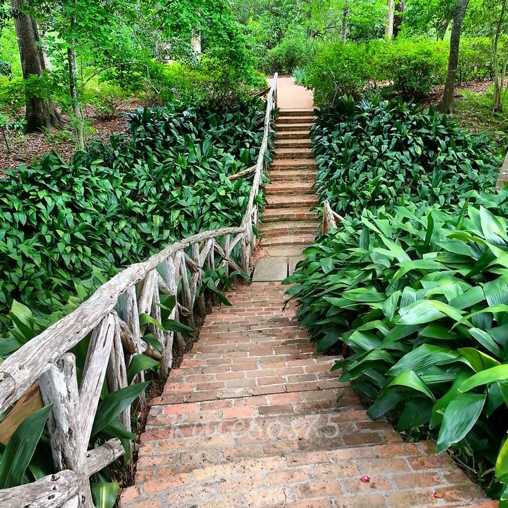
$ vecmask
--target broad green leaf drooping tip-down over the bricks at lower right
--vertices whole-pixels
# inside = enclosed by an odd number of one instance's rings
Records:
[[[482,413],[487,395],[461,393],[451,400],[442,417],[436,453],[451,447],[467,436]]]

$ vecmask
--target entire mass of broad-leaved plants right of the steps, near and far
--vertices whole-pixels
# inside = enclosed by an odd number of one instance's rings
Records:
[[[359,142],[359,140],[362,140]],[[482,137],[397,101],[340,99],[313,128],[322,199],[344,215],[286,280],[341,380],[400,431],[506,485],[508,191]],[[505,494],[503,494],[504,496]]]

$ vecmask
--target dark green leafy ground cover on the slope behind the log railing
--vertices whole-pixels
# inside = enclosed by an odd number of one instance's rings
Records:
[[[258,108],[259,106],[259,108]],[[173,240],[240,224],[262,104],[138,110],[130,135],[95,142],[70,164],[50,153],[0,179],[0,311],[55,309],[75,284],[112,275]]]

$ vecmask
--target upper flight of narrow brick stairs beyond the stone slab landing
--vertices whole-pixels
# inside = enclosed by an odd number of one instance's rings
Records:
[[[313,110],[281,110],[277,118],[275,157],[265,187],[266,207],[260,235],[263,251],[271,257],[298,257],[319,230],[319,201],[313,190],[315,160],[309,128]],[[287,275],[287,274],[286,274]]]

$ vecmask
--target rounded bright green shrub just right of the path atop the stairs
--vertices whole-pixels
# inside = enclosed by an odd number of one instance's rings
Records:
[[[309,67],[316,106],[334,104],[342,95],[358,97],[369,84],[367,46],[336,43],[324,47]]]

